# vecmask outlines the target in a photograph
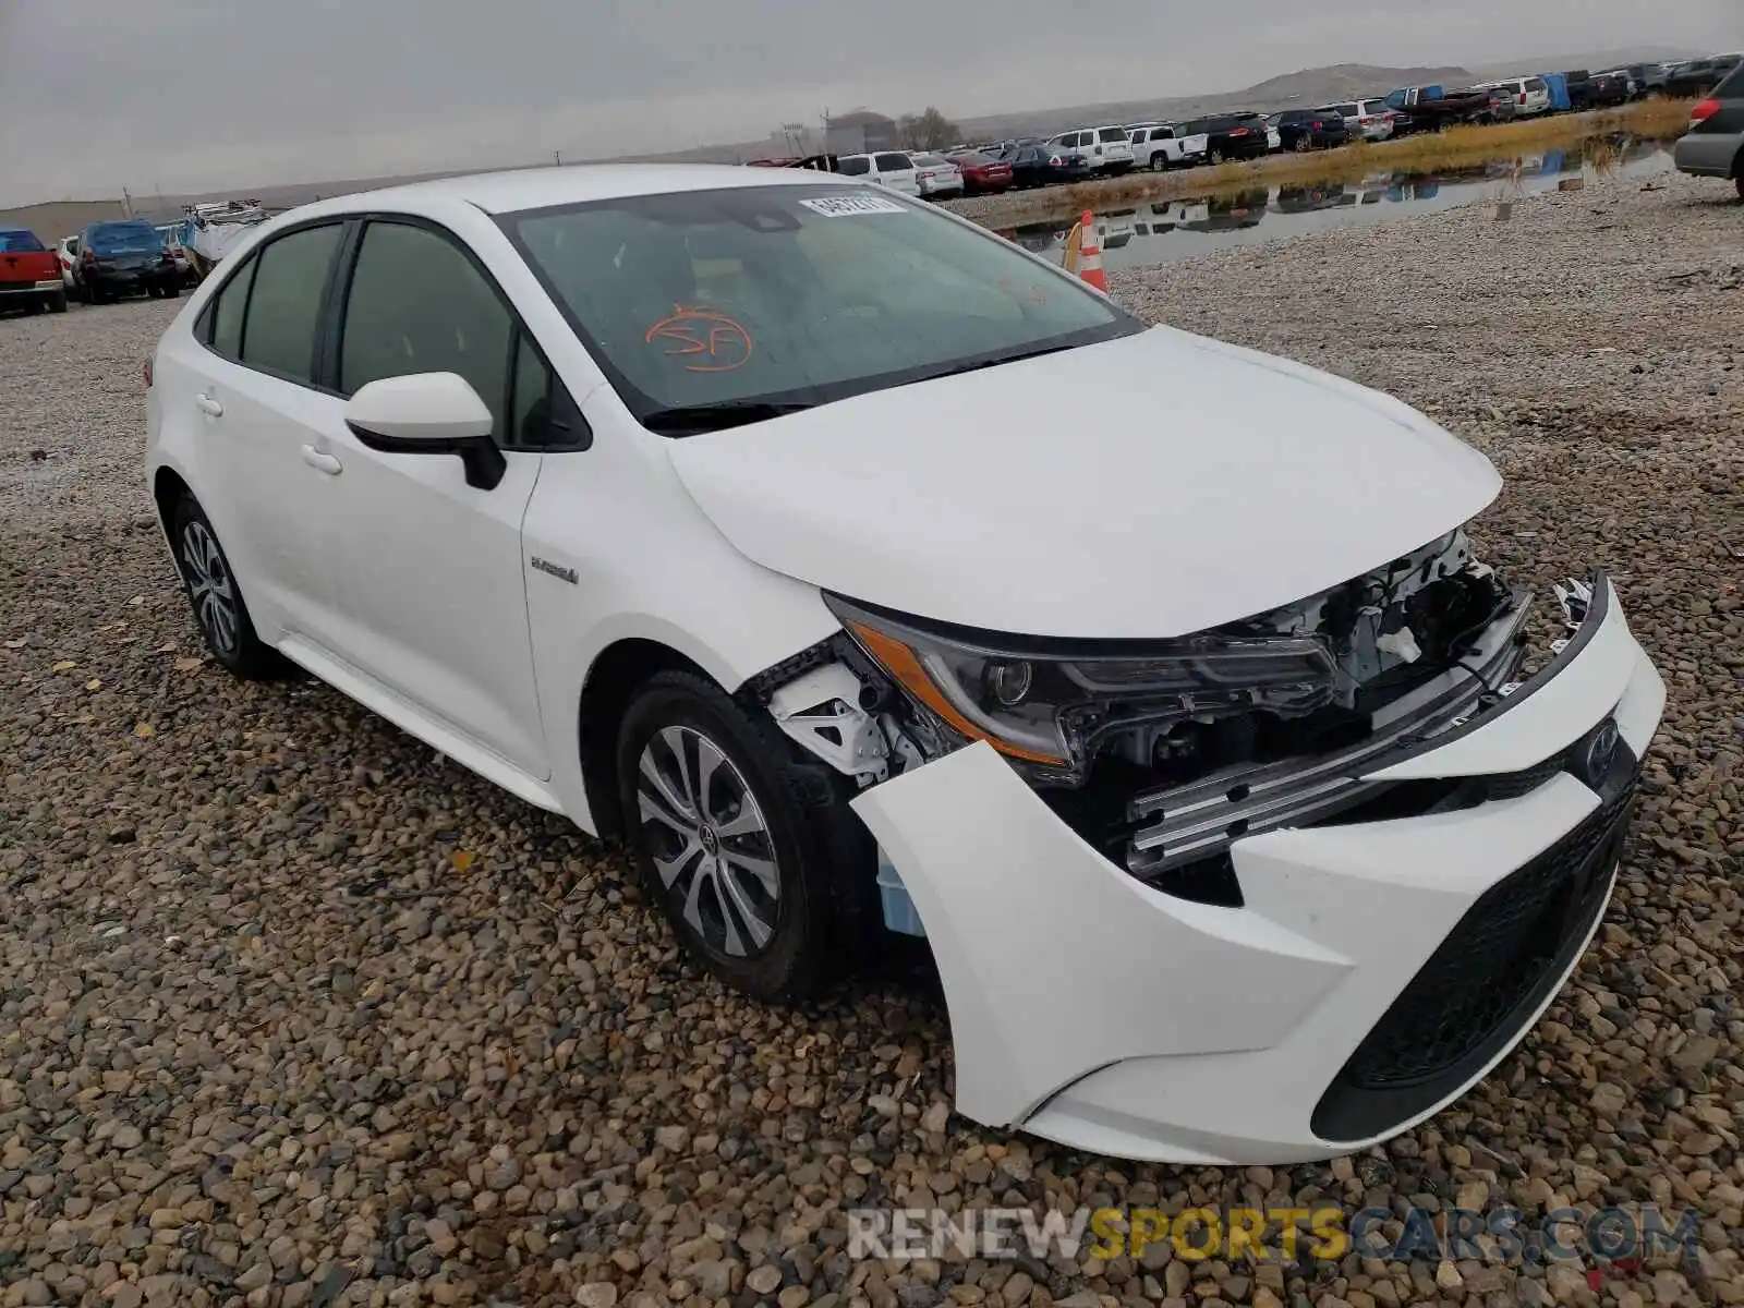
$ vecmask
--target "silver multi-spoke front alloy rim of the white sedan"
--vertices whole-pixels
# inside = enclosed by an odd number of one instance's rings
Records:
[[[781,916],[769,823],[708,736],[663,727],[642,746],[637,807],[661,886],[710,949],[760,954]]]

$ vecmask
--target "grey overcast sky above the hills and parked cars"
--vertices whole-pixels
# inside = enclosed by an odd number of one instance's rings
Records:
[[[0,0],[0,204],[1233,91],[1329,63],[1737,49],[1741,0]]]

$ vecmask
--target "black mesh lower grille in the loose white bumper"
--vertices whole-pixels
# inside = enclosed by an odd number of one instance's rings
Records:
[[[1625,755],[1598,811],[1465,912],[1322,1095],[1317,1135],[1386,1132],[1454,1092],[1517,1034],[1604,907],[1636,788]]]

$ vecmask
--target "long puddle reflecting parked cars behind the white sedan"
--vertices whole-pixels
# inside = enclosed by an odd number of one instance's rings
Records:
[[[1617,148],[1594,166],[1580,146],[1514,155],[1432,174],[1376,174],[1362,181],[1252,187],[1195,199],[1156,201],[1095,216],[1104,269],[1146,269],[1230,246],[1385,223],[1474,201],[1505,201],[1556,190],[1570,178],[1669,173],[1671,150],[1655,141]],[[1060,260],[1073,225],[1060,220],[999,228],[1025,249]]]

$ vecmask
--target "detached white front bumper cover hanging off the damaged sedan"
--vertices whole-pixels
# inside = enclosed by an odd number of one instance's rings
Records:
[[[855,809],[931,942],[961,1113],[1128,1158],[1303,1162],[1428,1118],[1538,1018],[1603,916],[1664,701],[1601,581],[1543,673],[1369,773],[1514,797],[1238,841],[1240,909],[1107,862],[987,745]]]

